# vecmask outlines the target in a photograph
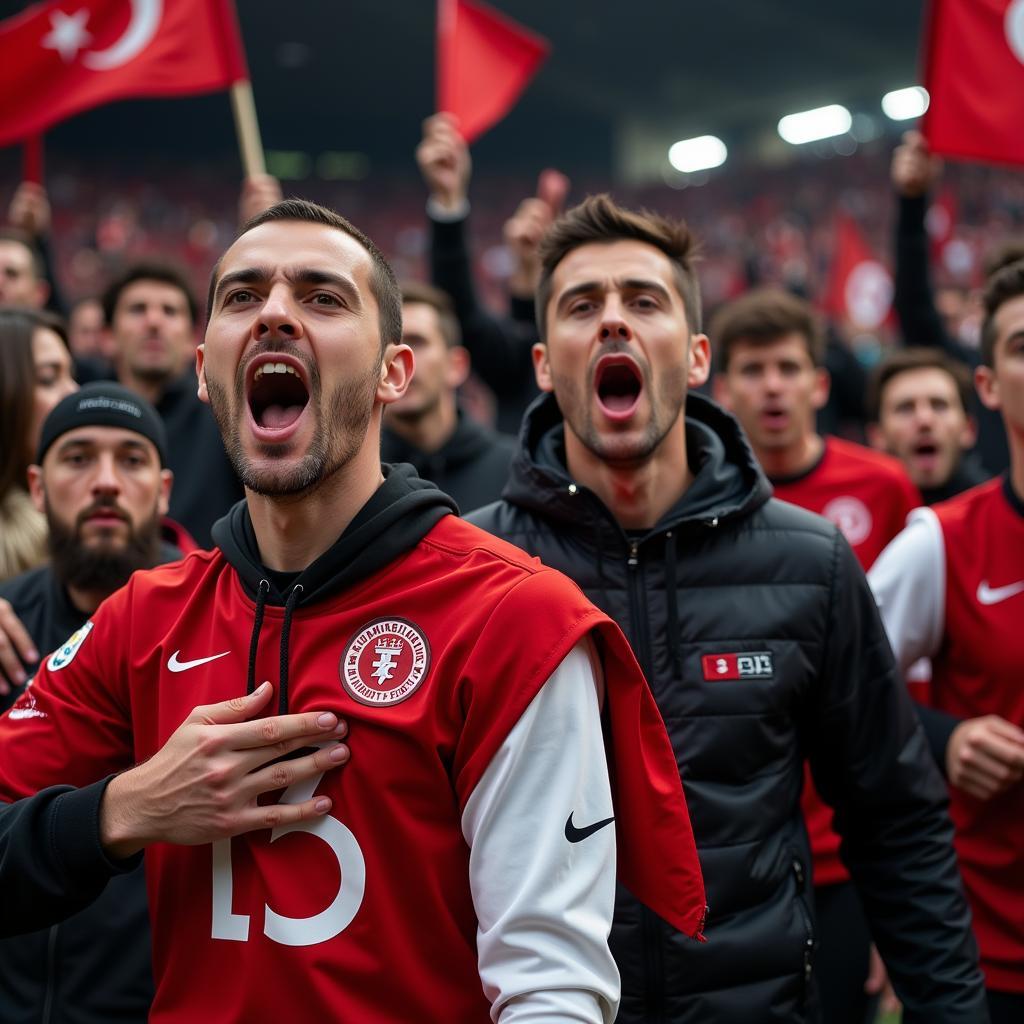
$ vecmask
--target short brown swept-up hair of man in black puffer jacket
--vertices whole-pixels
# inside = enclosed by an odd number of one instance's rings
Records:
[[[555,267],[574,249],[592,243],[644,242],[659,249],[672,263],[676,288],[686,310],[686,323],[700,330],[700,287],[693,266],[697,242],[684,220],[650,210],[628,210],[605,193],[588,196],[556,220],[541,242],[541,280],[537,286],[537,327],[544,341]]]

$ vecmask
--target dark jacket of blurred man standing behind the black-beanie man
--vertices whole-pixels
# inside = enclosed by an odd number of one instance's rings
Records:
[[[201,548],[209,548],[211,527],[245,492],[213,413],[196,388],[196,374],[187,370],[168,385],[156,407],[167,428],[167,468],[174,473],[170,514]]]

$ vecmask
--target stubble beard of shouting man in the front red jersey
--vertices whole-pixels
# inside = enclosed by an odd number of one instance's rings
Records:
[[[380,376],[381,360],[366,374],[343,381],[328,401],[327,414],[322,401],[323,385],[315,367],[310,367],[309,404],[315,420],[309,451],[298,464],[280,469],[259,467],[245,452],[240,423],[245,415],[244,368],[234,382],[234,401],[219,381],[207,376],[210,408],[220,429],[224,451],[243,485],[266,498],[300,497],[318,487],[356,456],[373,417],[374,392]],[[260,455],[273,460],[283,457],[287,444],[261,444]]]

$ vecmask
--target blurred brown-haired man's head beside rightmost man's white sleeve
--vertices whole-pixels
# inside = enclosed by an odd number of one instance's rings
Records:
[[[944,501],[991,475],[971,453],[977,440],[971,374],[937,348],[890,353],[867,394],[871,446],[903,463],[926,505]]]

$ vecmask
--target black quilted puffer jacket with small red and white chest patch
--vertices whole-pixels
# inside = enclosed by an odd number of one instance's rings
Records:
[[[692,484],[627,535],[572,482],[552,397],[504,501],[470,520],[567,573],[626,631],[675,745],[708,887],[706,945],[622,893],[624,1022],[818,1019],[803,764],[836,807],[906,1024],[987,1020],[945,786],[863,573],[826,520],[770,498],[735,421],[691,395]],[[759,654],[735,675],[730,655]]]

